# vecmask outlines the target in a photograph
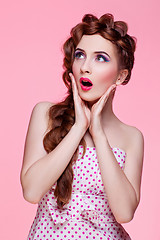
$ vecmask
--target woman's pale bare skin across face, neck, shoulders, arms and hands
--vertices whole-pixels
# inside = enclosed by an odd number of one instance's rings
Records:
[[[131,221],[140,201],[144,138],[137,128],[122,123],[113,113],[113,91],[125,80],[127,70],[118,70],[115,48],[106,41],[99,35],[84,35],[78,44],[84,55],[74,61],[73,74],[70,73],[75,124],[49,154],[46,154],[42,142],[48,126],[46,113],[52,103],[42,102],[33,109],[26,137],[21,184],[25,199],[38,203],[62,174],[84,137],[87,146],[96,147],[110,208],[116,220],[125,223]],[[107,52],[110,62],[97,61],[95,50]],[[98,72],[100,68],[101,74]],[[94,87],[90,93],[80,89],[78,79],[82,76],[92,80],[96,91]],[[125,150],[124,170],[120,168],[111,146]]]

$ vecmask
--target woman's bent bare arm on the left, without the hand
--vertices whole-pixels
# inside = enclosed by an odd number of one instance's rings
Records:
[[[47,154],[43,138],[48,127],[46,113],[50,106],[50,103],[41,102],[34,107],[26,136],[20,178],[24,198],[31,203],[38,203],[57,181],[86,131],[84,125],[74,124],[58,146]]]

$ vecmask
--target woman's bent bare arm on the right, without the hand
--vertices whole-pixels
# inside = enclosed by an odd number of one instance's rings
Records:
[[[106,136],[94,137],[99,167],[110,208],[119,223],[132,220],[140,201],[144,139],[135,129],[133,142],[127,151],[124,171],[120,168]]]

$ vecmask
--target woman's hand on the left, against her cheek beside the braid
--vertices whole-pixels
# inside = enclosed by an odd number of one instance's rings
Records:
[[[90,109],[86,106],[86,104],[78,94],[78,89],[73,74],[69,73],[69,76],[72,81],[72,91],[75,108],[75,124],[82,127],[84,131],[87,131],[90,125]]]

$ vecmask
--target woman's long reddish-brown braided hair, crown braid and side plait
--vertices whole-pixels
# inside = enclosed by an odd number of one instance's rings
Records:
[[[127,24],[123,21],[114,21],[113,15],[109,13],[104,14],[99,19],[92,14],[86,14],[82,18],[82,22],[71,29],[70,37],[63,45],[63,81],[68,89],[67,97],[64,101],[51,106],[49,109],[49,131],[43,139],[43,145],[47,153],[56,148],[75,122],[73,93],[69,73],[72,72],[74,51],[82,36],[99,34],[116,46],[119,69],[128,70],[128,75],[122,83],[125,85],[131,77],[131,70],[134,64],[134,52],[136,48],[136,39],[128,35],[127,31]],[[86,143],[83,138],[80,144],[83,145],[84,156]],[[77,150],[78,148],[76,151]],[[72,164],[74,160],[74,157],[70,159],[69,164],[57,180],[54,196],[57,198],[57,205],[59,208],[63,208],[63,206],[71,199],[73,182]]]

